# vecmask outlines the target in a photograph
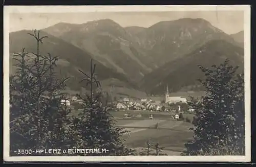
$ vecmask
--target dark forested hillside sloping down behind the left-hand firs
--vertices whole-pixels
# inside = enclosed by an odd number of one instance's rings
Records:
[[[12,54],[20,52],[23,47],[28,53],[36,52],[36,42],[32,36],[27,33],[33,33],[32,31],[18,31],[10,33],[10,67],[11,73],[14,73]],[[51,53],[52,56],[58,56],[58,75],[59,77],[71,77],[68,81],[68,86],[74,90],[80,89],[78,84],[82,79],[82,75],[78,69],[88,73],[90,70],[90,60],[92,56],[79,49],[78,47],[65,42],[59,38],[56,38],[50,34],[41,31],[41,36],[48,36],[49,38],[44,39],[44,43],[40,45],[41,54]],[[101,63],[94,61],[97,64],[96,74],[100,81],[107,79],[117,79],[125,82],[128,87],[133,87],[131,82],[123,74],[117,73],[110,68],[105,67]],[[127,86],[126,85],[126,86]]]

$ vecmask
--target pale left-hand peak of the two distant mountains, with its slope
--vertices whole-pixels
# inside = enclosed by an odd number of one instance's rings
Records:
[[[58,23],[44,31],[90,52],[95,60],[133,81],[142,79],[151,71],[141,59],[143,51],[134,44],[131,35],[113,20],[89,21],[81,25]]]

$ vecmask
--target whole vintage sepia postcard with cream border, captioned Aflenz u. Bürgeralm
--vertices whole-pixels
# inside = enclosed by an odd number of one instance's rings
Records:
[[[249,162],[250,6],[5,6],[4,160]]]

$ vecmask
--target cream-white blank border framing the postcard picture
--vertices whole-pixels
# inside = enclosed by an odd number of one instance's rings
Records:
[[[244,11],[245,74],[245,156],[9,156],[9,14],[11,13],[85,13],[153,11]],[[249,162],[250,140],[250,6],[249,5],[177,5],[177,6],[4,6],[4,161],[229,161]]]

